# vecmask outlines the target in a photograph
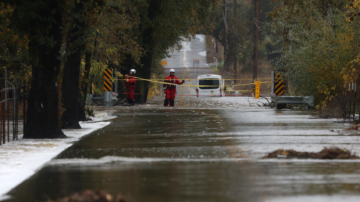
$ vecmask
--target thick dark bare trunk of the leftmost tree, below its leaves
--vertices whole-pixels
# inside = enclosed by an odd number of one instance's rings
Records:
[[[61,22],[61,17],[58,19]],[[65,138],[59,125],[57,78],[61,61],[60,25],[50,30],[55,45],[29,43],[32,64],[32,84],[29,92],[24,138]],[[32,37],[32,36],[31,36]],[[30,38],[31,38],[30,37]]]

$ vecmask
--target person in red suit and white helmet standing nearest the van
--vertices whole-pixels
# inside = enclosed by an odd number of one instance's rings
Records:
[[[183,83],[185,83],[185,81],[183,80],[182,82],[180,82],[179,79],[175,76],[175,70],[170,69],[170,75],[165,77],[165,83],[174,84],[174,85],[164,84],[164,93],[166,94],[164,106],[166,107],[169,105],[169,106],[173,107],[175,94],[176,94],[176,85],[175,84],[182,85]]]

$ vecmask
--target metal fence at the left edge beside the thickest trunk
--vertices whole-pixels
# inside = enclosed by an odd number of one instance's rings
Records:
[[[25,131],[28,88],[7,83],[0,90],[0,145],[17,140]]]

